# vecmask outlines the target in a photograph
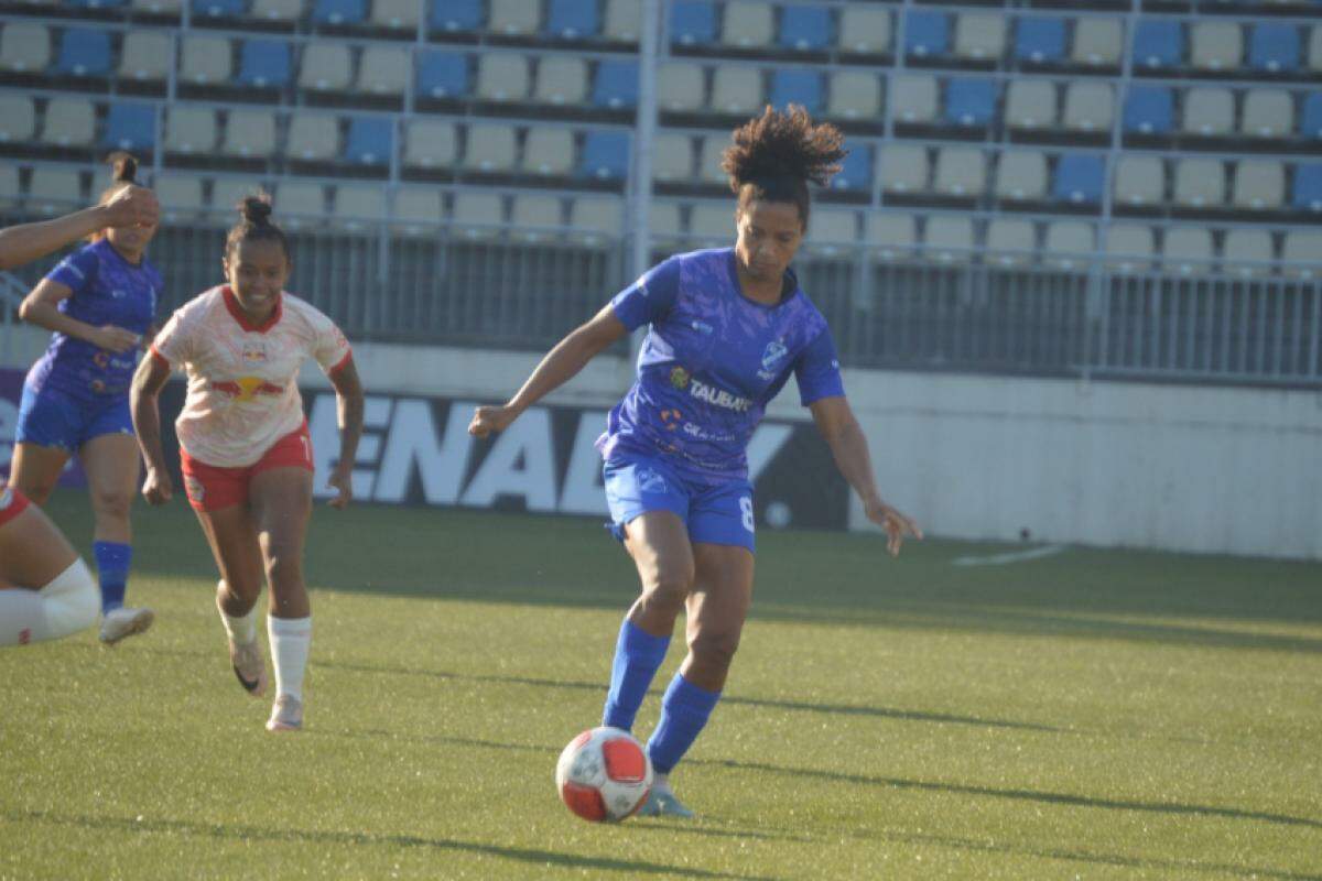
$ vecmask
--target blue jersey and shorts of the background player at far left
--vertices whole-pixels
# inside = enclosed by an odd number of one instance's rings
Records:
[[[94,328],[115,325],[143,335],[156,317],[160,273],[145,259],[137,265],[127,262],[107,239],[70,254],[46,277],[73,292],[61,300],[59,310]],[[116,355],[56,333],[28,372],[28,387],[37,392],[53,388],[82,400],[127,395],[136,366],[136,349]]]

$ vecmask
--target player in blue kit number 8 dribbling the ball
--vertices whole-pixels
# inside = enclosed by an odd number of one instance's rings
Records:
[[[789,269],[808,230],[808,184],[826,185],[843,156],[839,131],[814,125],[802,107],[768,107],[738,128],[722,165],[738,197],[735,246],[649,271],[562,339],[509,403],[479,407],[468,429],[502,431],[594,355],[650,325],[637,380],[598,441],[613,528],[642,582],[620,629],[603,724],[633,726],[680,610],[687,616],[689,654],[648,741],[657,778],[642,815],[691,816],[669,774],[706,725],[739,645],[754,577],[746,453],[791,374],[890,552],[906,535],[921,538],[876,490],[830,332]]]

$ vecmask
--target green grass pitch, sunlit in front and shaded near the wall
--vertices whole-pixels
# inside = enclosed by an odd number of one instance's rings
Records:
[[[551,775],[636,590],[596,523],[320,509],[272,736],[190,511],[135,510],[155,629],[0,652],[0,877],[1322,878],[1322,565],[763,534],[699,819],[592,826]]]

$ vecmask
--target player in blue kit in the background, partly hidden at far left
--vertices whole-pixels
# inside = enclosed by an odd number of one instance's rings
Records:
[[[110,161],[114,184],[100,205],[136,186],[132,156],[115,153]],[[22,320],[54,333],[22,386],[9,482],[45,505],[69,457],[78,454],[95,515],[100,639],[111,645],[152,623],[151,609],[124,606],[124,590],[140,468],[128,388],[161,292],[160,273],[144,256],[155,234],[155,225],[93,234],[91,244],[65,258],[19,306]]]

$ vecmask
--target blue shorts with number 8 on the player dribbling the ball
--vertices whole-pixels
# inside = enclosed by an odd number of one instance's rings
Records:
[[[648,511],[673,511],[689,528],[689,540],[734,544],[754,551],[752,485],[742,478],[710,481],[685,476],[653,456],[628,453],[605,464],[605,502],[611,532]]]

